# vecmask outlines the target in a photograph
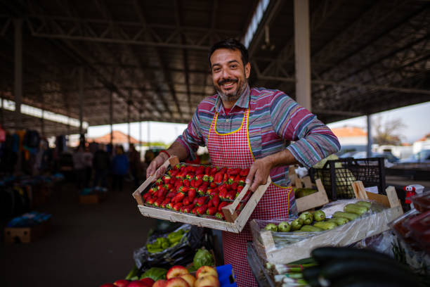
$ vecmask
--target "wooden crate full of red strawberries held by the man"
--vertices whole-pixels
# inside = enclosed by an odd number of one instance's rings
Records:
[[[252,193],[245,184],[249,169],[189,165],[176,157],[163,166],[161,178],[149,177],[133,193],[143,216],[235,233],[271,183],[269,178]]]

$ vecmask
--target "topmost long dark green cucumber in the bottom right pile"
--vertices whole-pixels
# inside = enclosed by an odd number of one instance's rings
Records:
[[[403,267],[398,268],[396,263],[397,262],[394,260],[391,260],[390,263],[381,263],[377,260],[370,261],[367,259],[364,260],[357,258],[333,260],[324,265],[323,270],[320,273],[323,280],[320,280],[320,283],[323,281],[332,283],[348,276],[360,274],[361,276],[392,278],[399,281],[402,279],[408,279],[408,281],[410,281],[410,286],[416,286],[412,283],[414,274]]]

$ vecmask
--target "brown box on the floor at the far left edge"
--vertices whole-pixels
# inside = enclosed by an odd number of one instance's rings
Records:
[[[44,236],[51,228],[51,219],[34,227],[6,227],[4,229],[5,243],[30,243]]]

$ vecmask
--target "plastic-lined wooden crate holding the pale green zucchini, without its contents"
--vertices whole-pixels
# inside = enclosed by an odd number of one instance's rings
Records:
[[[393,186],[389,186],[386,189],[387,196],[368,193],[365,191],[361,181],[354,182],[353,189],[357,191],[357,198],[372,199],[389,208],[282,248],[275,247],[271,231],[259,231],[257,222],[252,220],[250,225],[255,250],[264,260],[268,260],[274,264],[287,264],[310,257],[311,251],[320,246],[346,246],[363,238],[380,234],[389,229],[387,225],[389,222],[403,214],[400,200],[398,200],[396,190]],[[333,243],[334,240],[336,243]]]

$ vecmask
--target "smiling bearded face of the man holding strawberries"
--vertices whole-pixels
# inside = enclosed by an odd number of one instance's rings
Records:
[[[242,63],[240,50],[217,49],[211,55],[214,87],[226,106],[233,106],[245,90],[251,65]]]

